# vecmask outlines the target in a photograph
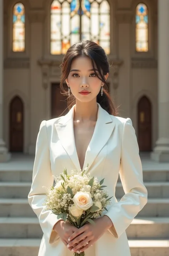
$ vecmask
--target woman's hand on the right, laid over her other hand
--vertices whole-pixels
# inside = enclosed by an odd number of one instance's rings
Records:
[[[76,246],[73,248],[73,251],[78,253],[83,252],[91,245],[93,245],[93,243],[95,243],[107,231],[107,229],[112,227],[112,221],[106,215],[95,219],[94,222],[95,225],[88,223],[77,229],[68,238],[68,241],[70,242],[67,246],[70,248],[76,244]]]

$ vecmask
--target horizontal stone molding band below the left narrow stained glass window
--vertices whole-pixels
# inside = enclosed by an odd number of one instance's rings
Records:
[[[29,58],[7,58],[4,60],[4,68],[29,68]]]

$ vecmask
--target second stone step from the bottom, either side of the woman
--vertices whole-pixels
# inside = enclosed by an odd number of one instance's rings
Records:
[[[0,218],[0,238],[42,238],[38,218]],[[169,237],[169,218],[135,218],[127,228],[129,239]]]

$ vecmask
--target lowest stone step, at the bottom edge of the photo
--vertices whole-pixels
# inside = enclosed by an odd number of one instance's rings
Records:
[[[169,240],[129,240],[131,256],[167,256]],[[0,239],[0,256],[37,256],[41,239]]]

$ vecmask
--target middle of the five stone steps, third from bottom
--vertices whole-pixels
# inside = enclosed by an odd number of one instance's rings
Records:
[[[117,199],[120,201],[120,199]],[[0,198],[0,217],[34,217],[27,199]],[[169,199],[149,198],[148,203],[138,213],[137,217],[168,217]]]

